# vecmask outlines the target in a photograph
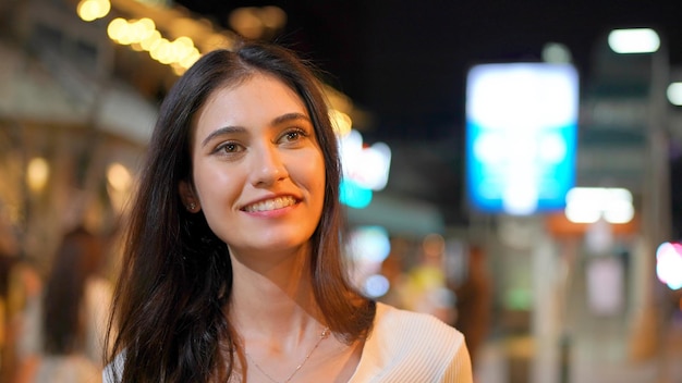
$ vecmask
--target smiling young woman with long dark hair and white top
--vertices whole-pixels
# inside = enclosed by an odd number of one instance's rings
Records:
[[[349,284],[340,176],[302,60],[257,42],[204,55],[149,144],[105,381],[471,382],[460,332]]]

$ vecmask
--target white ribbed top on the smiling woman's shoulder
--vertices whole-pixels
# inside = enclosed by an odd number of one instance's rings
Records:
[[[374,330],[349,383],[472,383],[464,336],[433,316],[377,304]]]

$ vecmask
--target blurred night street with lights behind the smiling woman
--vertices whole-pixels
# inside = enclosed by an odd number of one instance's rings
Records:
[[[42,353],[53,277],[86,281],[72,330],[101,333],[158,104],[238,36],[319,69],[353,281],[460,329],[476,383],[682,383],[681,15],[662,0],[0,0],[0,383]],[[56,276],[74,232],[94,236],[92,262]],[[88,347],[78,363],[98,371]]]

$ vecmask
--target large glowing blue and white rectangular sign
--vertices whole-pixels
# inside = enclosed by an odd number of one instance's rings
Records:
[[[466,84],[466,188],[475,210],[559,210],[574,185],[579,76],[570,64],[471,69]]]

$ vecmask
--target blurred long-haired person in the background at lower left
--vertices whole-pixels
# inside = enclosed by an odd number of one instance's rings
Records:
[[[83,227],[64,235],[40,305],[29,309],[20,346],[19,383],[101,381],[107,283],[101,239]]]

